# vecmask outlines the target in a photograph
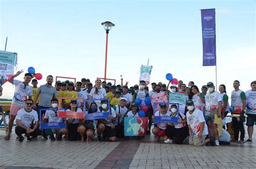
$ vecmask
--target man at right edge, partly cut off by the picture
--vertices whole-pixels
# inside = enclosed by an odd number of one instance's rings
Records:
[[[252,134],[253,134],[253,126],[256,123],[256,80],[251,83],[252,90],[248,90],[245,92],[246,96],[246,106],[247,106],[247,120],[246,125],[248,126],[248,140],[246,143],[252,143]]]

